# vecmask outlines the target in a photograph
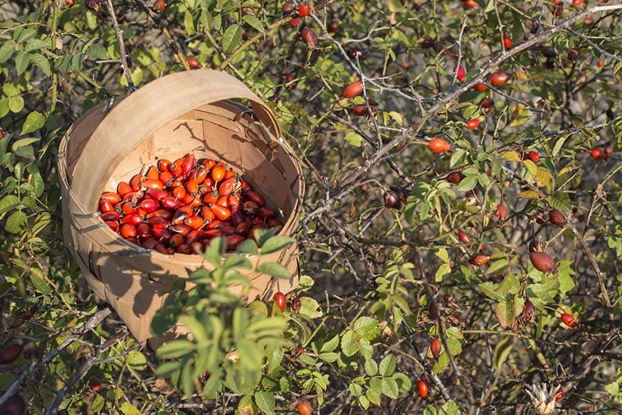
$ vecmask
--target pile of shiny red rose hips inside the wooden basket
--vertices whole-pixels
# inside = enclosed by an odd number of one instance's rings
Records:
[[[283,227],[264,197],[225,163],[186,155],[157,164],[100,197],[102,220],[129,242],[169,255],[192,254],[224,236],[234,250],[254,239],[255,229]]]

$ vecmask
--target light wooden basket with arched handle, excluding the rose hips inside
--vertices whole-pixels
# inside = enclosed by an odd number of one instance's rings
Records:
[[[247,100],[249,107],[232,99]],[[59,146],[63,236],[95,294],[109,302],[138,341],[173,282],[199,267],[200,255],[164,255],[127,242],[97,213],[100,194],[156,164],[187,153],[223,160],[281,212],[281,235],[296,238],[304,184],[292,150],[281,139],[272,110],[241,81],[214,70],[192,70],[156,79],[135,93],[92,108],[71,126]],[[254,298],[286,293],[299,282],[298,247],[262,261],[279,262],[290,280],[249,273]],[[249,258],[253,264],[257,257]],[[233,287],[240,293],[241,287]]]

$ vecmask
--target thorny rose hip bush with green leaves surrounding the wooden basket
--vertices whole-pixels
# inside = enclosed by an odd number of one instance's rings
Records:
[[[621,13],[3,3],[1,412],[619,412]],[[292,241],[260,233],[223,262],[215,239],[216,269],[152,327],[192,336],[155,354],[64,249],[57,144],[93,105],[198,68],[268,102],[303,165],[301,285],[247,307],[227,294],[244,255]]]

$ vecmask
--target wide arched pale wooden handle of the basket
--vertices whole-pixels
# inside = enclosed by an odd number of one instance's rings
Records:
[[[259,118],[270,120],[270,125],[266,125],[270,133],[281,137],[272,110],[245,84],[227,73],[202,69],[158,78],[126,96],[95,128],[83,153],[97,154],[97,163],[88,163],[87,157],[80,157],[73,173],[71,188],[77,197],[76,207],[90,213],[104,180],[145,137],[198,106],[232,98],[249,99]]]

